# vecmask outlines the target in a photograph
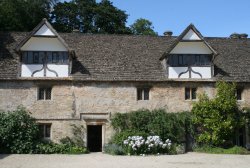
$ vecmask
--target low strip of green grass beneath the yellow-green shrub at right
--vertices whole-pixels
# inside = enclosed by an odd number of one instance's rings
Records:
[[[250,151],[243,147],[234,146],[232,148],[224,149],[219,147],[203,146],[194,149],[195,152],[201,153],[212,153],[212,154],[239,154],[239,155],[250,155]]]

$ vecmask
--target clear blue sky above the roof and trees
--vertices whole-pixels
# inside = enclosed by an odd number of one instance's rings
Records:
[[[203,36],[228,37],[233,32],[250,36],[250,0],[111,1],[129,15],[127,25],[145,18],[153,22],[159,35],[166,30],[179,35],[193,23]]]

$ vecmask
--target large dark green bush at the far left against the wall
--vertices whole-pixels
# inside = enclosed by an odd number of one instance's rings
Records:
[[[33,153],[38,126],[24,108],[0,112],[0,153]]]

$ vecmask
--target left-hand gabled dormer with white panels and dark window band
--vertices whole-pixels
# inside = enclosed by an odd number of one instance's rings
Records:
[[[73,51],[51,24],[41,23],[17,46],[21,77],[68,77]]]

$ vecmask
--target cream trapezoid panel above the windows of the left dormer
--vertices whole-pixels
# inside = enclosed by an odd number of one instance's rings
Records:
[[[57,38],[31,37],[21,48],[22,51],[67,51]]]

